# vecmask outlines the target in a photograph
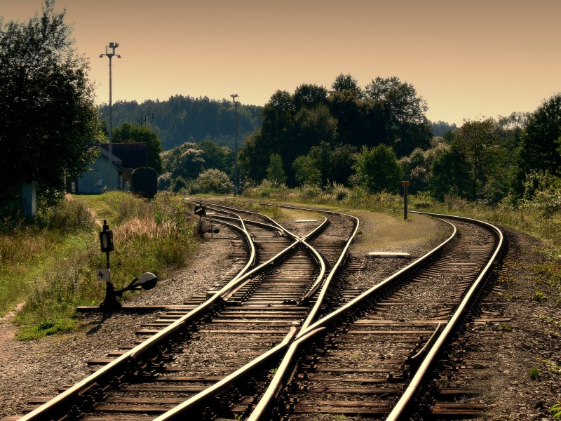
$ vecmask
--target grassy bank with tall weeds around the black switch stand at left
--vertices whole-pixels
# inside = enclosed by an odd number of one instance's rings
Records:
[[[154,201],[112,192],[69,196],[41,213],[34,225],[4,227],[0,234],[0,312],[25,302],[15,317],[18,338],[33,339],[76,327],[79,305],[97,305],[104,284],[95,269],[105,267],[93,215],[113,229],[111,278],[122,288],[142,272],[165,276],[187,264],[196,246],[192,224],[178,201]],[[99,221],[97,221],[99,222]]]

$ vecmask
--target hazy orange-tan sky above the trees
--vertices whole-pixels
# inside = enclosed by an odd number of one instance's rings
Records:
[[[42,0],[0,0],[27,20]],[[58,0],[90,59],[97,101],[222,100],[264,105],[278,89],[360,86],[377,76],[412,83],[428,119],[532,112],[561,91],[559,0]]]

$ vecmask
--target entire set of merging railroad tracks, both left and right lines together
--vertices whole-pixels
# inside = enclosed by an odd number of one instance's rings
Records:
[[[170,309],[139,331],[140,349],[97,361],[107,364],[97,373],[119,359],[124,370],[86,379],[21,420],[307,420],[317,413],[400,420],[434,402],[427,393],[435,392],[438,357],[497,258],[498,230],[454,222],[460,238],[450,236],[340,307],[330,288],[358,220],[328,214],[297,236],[262,215],[208,208],[215,221],[239,221],[255,257],[248,253],[248,264],[212,298],[198,298],[203,309]],[[145,349],[158,336],[165,345]],[[473,393],[437,389],[446,399]]]

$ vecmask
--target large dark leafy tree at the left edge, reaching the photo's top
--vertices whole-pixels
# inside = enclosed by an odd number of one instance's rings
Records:
[[[0,20],[0,202],[23,180],[54,198],[62,175],[87,171],[100,136],[88,62],[76,54],[66,11],[45,0],[29,22]]]

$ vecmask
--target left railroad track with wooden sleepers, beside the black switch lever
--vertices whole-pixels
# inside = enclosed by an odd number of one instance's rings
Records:
[[[295,335],[309,314],[304,296],[322,283],[332,262],[306,243],[309,235],[296,236],[263,215],[209,210],[212,220],[243,233],[243,269],[220,290],[168,307],[137,331],[137,344],[112,354],[116,359],[90,361],[92,376],[54,399],[34,399],[32,405],[46,402],[22,420],[151,420]],[[309,234],[329,229],[325,218]],[[252,392],[256,384],[246,379],[238,390]]]

